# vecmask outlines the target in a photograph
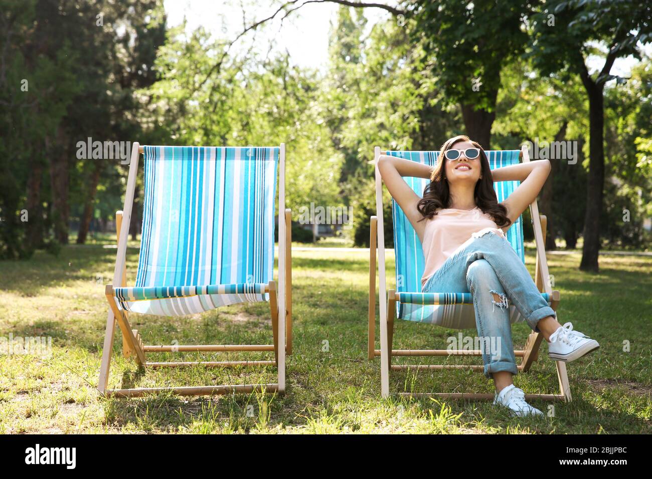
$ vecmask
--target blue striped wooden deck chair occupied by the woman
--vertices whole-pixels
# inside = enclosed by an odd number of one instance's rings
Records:
[[[378,171],[378,157],[380,154],[388,154],[405,158],[414,162],[420,162],[434,166],[437,162],[438,151],[380,151],[376,147],[374,158],[376,160],[376,216],[371,217],[370,233],[370,270],[369,270],[369,316],[368,316],[368,358],[381,357],[381,394],[389,396],[389,371],[403,369],[417,370],[445,370],[445,369],[469,369],[482,371],[481,365],[393,365],[393,356],[482,356],[480,350],[475,351],[448,351],[447,349],[393,349],[394,319],[406,321],[418,321],[421,323],[432,323],[447,328],[475,328],[475,314],[473,311],[473,298],[470,293],[421,293],[421,276],[424,270],[424,256],[421,241],[410,224],[404,212],[398,204],[392,200],[392,216],[394,225],[394,256],[396,261],[396,290],[387,291],[385,284],[385,239],[383,229],[383,196],[382,182]],[[492,169],[518,164],[520,158],[529,162],[527,147],[521,151],[486,151],[489,165]],[[422,196],[424,187],[428,180],[422,178],[406,177],[406,182],[413,191]],[[503,201],[514,191],[519,182],[506,181],[494,184],[498,201]],[[542,296],[550,306],[556,310],[559,303],[559,291],[552,291],[548,281],[548,263],[544,249],[544,238],[546,234],[546,217],[539,215],[537,200],[530,205],[530,212],[533,219],[535,243],[537,246],[537,263],[535,282]],[[378,239],[378,243],[376,242]],[[523,246],[523,224],[522,218],[518,218],[512,227],[507,231],[507,239],[512,248],[525,262]],[[378,248],[376,248],[378,244]],[[379,310],[380,310],[380,349],[376,349],[376,249],[378,249],[379,269]],[[510,321],[516,323],[524,321],[516,308],[510,304]],[[514,350],[516,358],[522,358],[518,369],[526,372],[532,363],[537,360],[539,347],[543,336],[541,333],[529,334],[525,349]],[[571,401],[571,390],[569,388],[566,365],[557,361],[557,377],[561,394],[526,394],[528,399],[563,399]],[[472,393],[400,393],[413,396],[439,396],[450,399],[493,399],[493,394],[472,394]]]

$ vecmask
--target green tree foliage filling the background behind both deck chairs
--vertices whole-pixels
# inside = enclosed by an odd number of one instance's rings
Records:
[[[496,115],[493,148],[550,141],[565,126],[565,138],[581,141],[587,154],[588,104],[574,74],[580,57],[600,53],[609,38],[617,40],[617,55],[640,57],[633,42],[650,40],[649,12],[632,1],[405,1],[402,8],[406,18],[370,25],[363,8],[340,7],[328,70],[318,72],[291,65],[286,54],[252,48],[236,55],[231,38],[189,31],[185,23],[168,29],[160,0],[3,1],[0,257],[54,250],[49,245],[65,243],[70,225],[88,219],[106,227],[121,209],[127,169],[78,160],[76,142],[88,137],[176,145],[283,141],[287,205],[295,216],[310,203],[351,206],[353,229],[345,234],[366,245],[376,214],[368,164],[374,147],[438,149],[466,132],[460,104],[471,101]],[[100,13],[102,26],[95,24]],[[529,56],[520,59],[524,50]],[[649,71],[643,59],[632,78],[615,78],[604,93],[604,212],[614,223],[603,233],[623,246],[649,244]],[[479,91],[473,78],[481,78]],[[20,91],[22,80],[29,91]],[[555,205],[563,205],[554,210],[558,235],[582,230],[586,167],[552,175]],[[141,181],[140,175],[132,233],[141,219]],[[389,245],[386,192],[384,204]],[[20,221],[23,209],[29,222]],[[623,209],[631,212],[627,224]],[[297,240],[303,234],[297,230]]]

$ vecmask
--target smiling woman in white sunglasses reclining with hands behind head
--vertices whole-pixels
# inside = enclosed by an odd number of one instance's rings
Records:
[[[539,160],[489,168],[482,147],[467,136],[456,136],[441,147],[439,161],[430,166],[381,155],[378,169],[390,194],[406,214],[423,246],[422,292],[470,292],[475,324],[482,338],[484,375],[494,379],[494,404],[512,414],[543,414],[525,400],[512,376],[518,373],[512,346],[507,299],[527,324],[548,341],[554,360],[571,362],[597,349],[597,341],[560,325],[541,297],[505,232],[539,194],[550,162]],[[430,178],[420,198],[402,177]],[[498,203],[494,181],[520,181]],[[496,306],[498,306],[496,308]],[[487,351],[487,345],[498,345]]]

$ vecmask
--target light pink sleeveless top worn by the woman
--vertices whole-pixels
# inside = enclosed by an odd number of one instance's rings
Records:
[[[426,265],[421,277],[421,288],[473,233],[494,231],[505,238],[503,230],[493,218],[483,213],[479,207],[472,210],[441,209],[435,216],[424,221],[426,228],[422,246]]]

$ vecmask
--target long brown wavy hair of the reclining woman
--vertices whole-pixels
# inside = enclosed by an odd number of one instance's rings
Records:
[[[449,183],[446,179],[446,157],[444,152],[452,149],[456,143],[460,141],[469,141],[474,147],[480,150],[480,164],[482,167],[482,178],[475,184],[475,191],[473,197],[475,204],[482,212],[489,214],[494,218],[494,222],[499,227],[505,227],[512,222],[507,218],[507,208],[498,203],[496,192],[494,191],[494,181],[492,179],[491,169],[489,167],[489,160],[486,153],[477,141],[473,141],[466,135],[456,136],[448,139],[439,150],[439,161],[437,166],[433,169],[430,176],[430,183],[426,185],[423,190],[423,197],[417,203],[417,210],[423,215],[422,221],[426,218],[431,219],[436,216],[437,210],[447,209],[451,207],[451,191]]]

